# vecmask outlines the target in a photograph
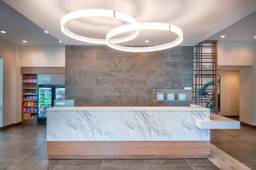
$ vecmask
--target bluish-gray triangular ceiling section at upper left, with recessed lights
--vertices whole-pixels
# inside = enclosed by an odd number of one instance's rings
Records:
[[[60,45],[58,40],[46,34],[39,26],[17,12],[15,9],[0,1],[0,38],[20,45]],[[23,43],[27,40],[27,43]]]

